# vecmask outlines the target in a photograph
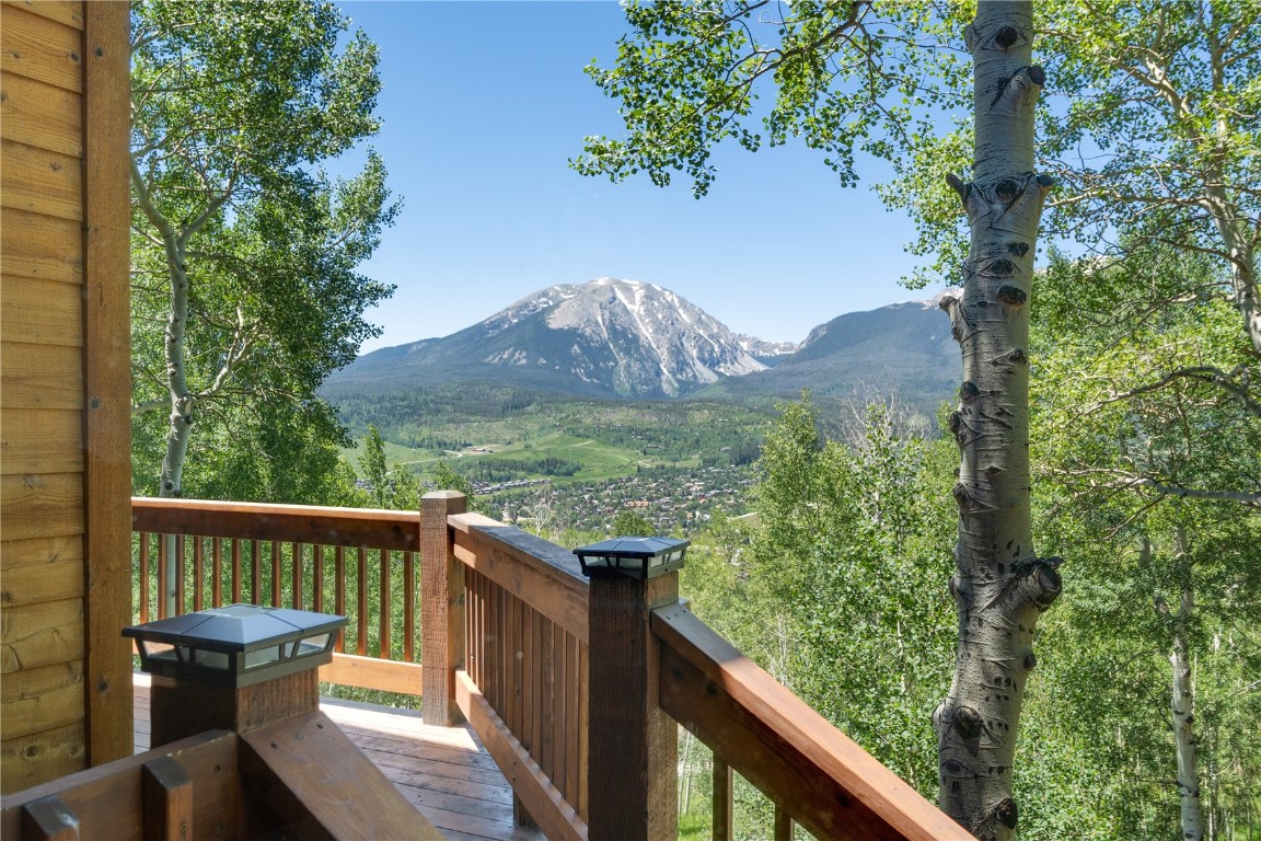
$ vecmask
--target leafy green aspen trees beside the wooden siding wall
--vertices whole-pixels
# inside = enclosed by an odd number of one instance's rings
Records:
[[[391,287],[356,267],[397,209],[371,150],[354,178],[320,169],[378,127],[377,50],[346,26],[330,3],[132,5],[141,492],[183,493],[194,422],[198,493],[223,485],[216,429],[262,461],[267,435],[342,443],[315,388],[378,332],[363,311]]]

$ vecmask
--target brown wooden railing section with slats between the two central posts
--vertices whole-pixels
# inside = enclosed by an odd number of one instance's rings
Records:
[[[585,838],[586,579],[571,552],[520,528],[475,513],[446,525],[459,572],[449,593],[463,595],[464,617],[448,663],[455,704],[513,772],[518,816],[547,837]]]

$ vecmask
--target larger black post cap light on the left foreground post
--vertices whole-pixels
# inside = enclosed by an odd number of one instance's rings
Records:
[[[346,617],[230,604],[122,629],[151,675],[214,686],[252,686],[333,662]]]

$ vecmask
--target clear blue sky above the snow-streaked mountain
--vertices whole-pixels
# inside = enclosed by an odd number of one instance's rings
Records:
[[[385,125],[372,145],[404,199],[362,267],[397,285],[369,311],[385,333],[364,352],[601,276],[665,286],[736,332],[792,342],[842,313],[939,289],[899,285],[910,223],[869,187],[842,189],[802,145],[720,149],[700,200],[685,178],[660,189],[569,169],[585,135],[622,129],[617,103],[583,73],[615,55],[615,3],[340,6],[381,48]]]

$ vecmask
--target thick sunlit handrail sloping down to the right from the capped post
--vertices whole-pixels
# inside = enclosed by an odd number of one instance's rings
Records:
[[[682,605],[652,632],[661,707],[816,837],[972,838]]]

